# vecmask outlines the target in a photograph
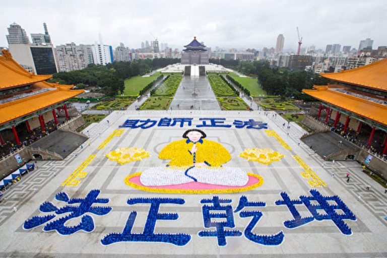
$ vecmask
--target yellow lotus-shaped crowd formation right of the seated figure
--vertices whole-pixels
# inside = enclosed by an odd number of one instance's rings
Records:
[[[272,149],[246,148],[239,154],[239,157],[247,159],[248,161],[258,161],[262,164],[269,165],[274,161],[281,160],[284,155]]]

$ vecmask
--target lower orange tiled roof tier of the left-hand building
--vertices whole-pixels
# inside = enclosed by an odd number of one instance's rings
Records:
[[[47,82],[41,83],[51,85],[52,88],[55,87],[56,89],[38,95],[18,99],[9,103],[1,104],[0,124],[66,101],[84,92],[84,90],[70,90],[70,86],[68,85],[62,87],[60,85],[50,84]]]

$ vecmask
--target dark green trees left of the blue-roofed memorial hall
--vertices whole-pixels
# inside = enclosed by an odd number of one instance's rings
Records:
[[[79,89],[98,87],[100,92],[114,96],[118,92],[123,92],[125,79],[145,75],[152,70],[177,62],[180,62],[179,58],[140,59],[130,62],[118,61],[108,63],[106,66],[91,63],[83,70],[54,74],[50,82],[73,84]]]

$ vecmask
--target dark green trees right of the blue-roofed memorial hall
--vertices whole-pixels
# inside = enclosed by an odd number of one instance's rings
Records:
[[[268,60],[239,61],[225,59],[210,59],[210,62],[222,64],[245,75],[255,75],[258,83],[269,95],[294,97],[304,101],[314,99],[302,94],[302,89],[311,89],[313,85],[326,85],[328,79],[313,72],[292,71],[287,68],[271,66]]]

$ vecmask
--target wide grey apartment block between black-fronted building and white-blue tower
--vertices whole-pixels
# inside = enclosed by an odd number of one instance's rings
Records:
[[[85,69],[93,63],[91,45],[79,45],[74,42],[56,46],[56,62],[59,72],[70,72]]]

